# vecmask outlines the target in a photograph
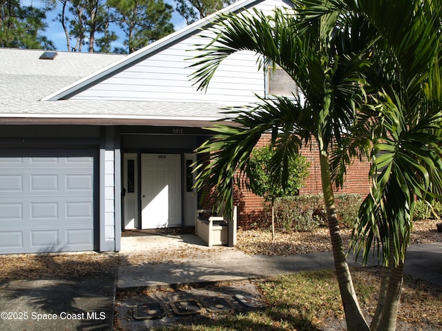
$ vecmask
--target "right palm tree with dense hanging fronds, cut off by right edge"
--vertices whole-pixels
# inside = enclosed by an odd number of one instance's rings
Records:
[[[376,30],[366,82],[374,106],[361,112],[365,132],[374,138],[374,185],[361,206],[354,242],[365,249],[365,261],[373,241],[383,248],[381,293],[370,328],[395,330],[415,197],[441,196],[442,5],[431,0],[329,2],[322,13],[318,1],[304,2],[316,5],[308,16],[338,10],[364,17]]]

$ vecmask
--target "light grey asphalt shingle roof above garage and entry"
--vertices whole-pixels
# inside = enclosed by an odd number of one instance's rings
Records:
[[[110,123],[112,120],[111,123],[117,123],[124,120],[209,122],[222,117],[220,108],[223,105],[214,103],[41,101],[48,94],[124,57],[119,54],[57,52],[54,60],[39,59],[43,52],[0,48],[0,118],[10,118],[8,122],[11,119],[52,118],[95,119],[94,123]]]

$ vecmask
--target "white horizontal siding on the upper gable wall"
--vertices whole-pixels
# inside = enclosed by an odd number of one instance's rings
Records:
[[[264,1],[257,6],[271,10],[282,1]],[[205,32],[206,33],[206,32]],[[102,99],[123,101],[177,101],[243,105],[256,101],[254,93],[265,95],[265,76],[258,70],[253,52],[237,52],[224,60],[206,92],[197,91],[189,75],[195,54],[195,44],[205,44],[193,35],[164,50],[152,54],[140,63],[80,92],[72,99]]]

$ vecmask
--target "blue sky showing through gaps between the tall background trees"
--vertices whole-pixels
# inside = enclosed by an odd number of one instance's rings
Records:
[[[175,3],[173,2],[173,0],[165,0],[165,2],[170,3],[171,6],[175,8]],[[22,6],[34,6],[36,8],[44,8],[44,0],[21,0],[20,3]],[[48,23],[48,28],[46,28],[46,32],[44,34],[54,43],[55,50],[66,51],[66,35],[64,34],[64,30],[61,27],[61,23],[59,23],[58,21],[54,21],[59,10],[60,6],[58,6],[57,9],[46,13],[46,17],[48,17],[48,19],[46,20]],[[184,26],[186,26],[186,21],[180,16],[180,14],[175,11],[172,15],[172,23],[175,27],[175,30],[180,30],[181,28],[184,28]],[[112,30],[114,30],[118,34],[117,27],[113,28]],[[123,45],[121,41],[113,43],[113,47],[122,46]],[[87,48],[84,48],[84,51],[87,51]]]

